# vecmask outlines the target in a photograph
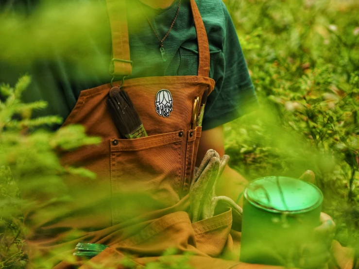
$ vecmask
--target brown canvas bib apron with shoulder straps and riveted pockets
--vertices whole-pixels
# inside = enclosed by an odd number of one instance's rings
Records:
[[[213,218],[191,223],[188,191],[201,137],[201,127],[191,129],[193,101],[215,82],[209,75],[209,46],[205,26],[195,3],[194,18],[199,66],[197,76],[147,77],[116,82],[125,89],[137,109],[148,137],[119,139],[105,100],[110,84],[84,90],[64,123],[82,124],[86,134],[100,136],[102,143],[62,154],[64,166],[79,165],[97,173],[97,179],[65,178],[72,200],[63,202],[51,219],[36,219],[27,238],[29,267],[36,257],[56,269],[91,268],[71,256],[77,243],[108,245],[93,257],[92,264],[122,268],[124,252],[137,258],[140,267],[157,259],[168,248],[194,252],[189,264],[196,269],[276,268],[239,263],[240,233],[232,228],[231,210]],[[113,40],[114,75],[131,74],[125,1],[107,0]],[[173,108],[169,117],[156,112],[156,94],[171,92]],[[81,190],[81,191],[79,191]],[[56,210],[59,204],[51,205]],[[41,213],[41,210],[40,210]],[[34,224],[36,222],[36,224]],[[232,260],[215,257],[231,255]],[[68,260],[72,257],[72,260]],[[228,257],[228,256],[227,256]],[[48,265],[49,265],[48,264]]]

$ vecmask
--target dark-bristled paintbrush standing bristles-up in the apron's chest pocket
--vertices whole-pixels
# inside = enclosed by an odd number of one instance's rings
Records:
[[[136,108],[125,90],[113,87],[106,104],[121,138],[135,139],[147,136]]]

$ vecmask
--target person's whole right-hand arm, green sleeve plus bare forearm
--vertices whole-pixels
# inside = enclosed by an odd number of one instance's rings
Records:
[[[216,52],[216,62],[213,62],[214,57],[211,56],[210,74],[216,85],[205,105],[197,166],[209,149],[217,151],[220,156],[224,155],[223,124],[243,116],[258,106],[236,28],[222,1],[221,5],[222,22],[218,23],[216,28],[210,28],[216,31],[208,31],[209,43],[215,48],[213,50],[220,49],[221,52]],[[227,166],[222,177],[217,180],[216,195],[227,196],[236,202],[246,184],[247,181],[238,172]]]

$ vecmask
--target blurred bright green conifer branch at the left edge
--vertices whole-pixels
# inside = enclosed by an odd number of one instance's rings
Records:
[[[20,268],[26,264],[20,207],[32,201],[20,199],[17,186],[33,192],[34,199],[47,195],[53,200],[61,199],[60,190],[66,190],[62,175],[95,177],[83,168],[63,168],[55,150],[95,144],[100,139],[86,137],[82,126],[64,127],[55,133],[39,129],[59,124],[62,119],[30,118],[34,109],[47,105],[41,101],[30,104],[20,101],[21,93],[30,82],[29,76],[23,76],[14,88],[0,85],[3,97],[0,101],[0,268]]]

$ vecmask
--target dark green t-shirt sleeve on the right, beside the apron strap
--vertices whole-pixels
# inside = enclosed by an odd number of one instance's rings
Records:
[[[238,35],[227,8],[223,5],[225,30],[222,36],[224,66],[216,66],[216,86],[208,96],[203,130],[232,121],[256,109],[256,93],[250,78]],[[212,68],[212,66],[211,66]]]

